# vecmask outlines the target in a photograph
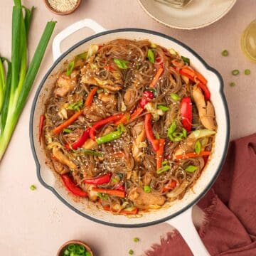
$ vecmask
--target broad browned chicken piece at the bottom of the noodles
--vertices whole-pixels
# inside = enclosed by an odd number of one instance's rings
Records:
[[[134,206],[145,210],[155,208],[155,206],[162,206],[166,201],[164,196],[160,196],[155,192],[145,193],[140,187],[132,188],[129,191],[128,199],[134,203]]]

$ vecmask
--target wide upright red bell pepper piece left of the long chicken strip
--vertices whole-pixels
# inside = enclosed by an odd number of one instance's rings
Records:
[[[183,97],[181,100],[181,122],[187,132],[192,127],[192,102],[190,97]]]

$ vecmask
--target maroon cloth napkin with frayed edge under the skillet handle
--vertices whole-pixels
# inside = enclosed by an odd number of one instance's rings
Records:
[[[256,134],[230,142],[223,170],[198,206],[206,215],[198,233],[210,255],[256,255]],[[145,254],[192,255],[178,232]]]

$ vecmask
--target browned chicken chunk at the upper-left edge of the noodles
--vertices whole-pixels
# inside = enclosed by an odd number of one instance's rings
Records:
[[[57,80],[58,87],[54,91],[55,95],[60,97],[65,97],[65,95],[67,95],[68,92],[71,92],[72,90],[74,90],[78,82],[78,75],[79,75],[78,70],[74,70],[71,73],[70,77],[65,75],[65,73],[60,75],[60,77]]]

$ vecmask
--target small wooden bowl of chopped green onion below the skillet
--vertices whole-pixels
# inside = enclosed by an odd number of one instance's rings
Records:
[[[71,240],[60,246],[57,256],[93,256],[93,252],[85,242]]]

